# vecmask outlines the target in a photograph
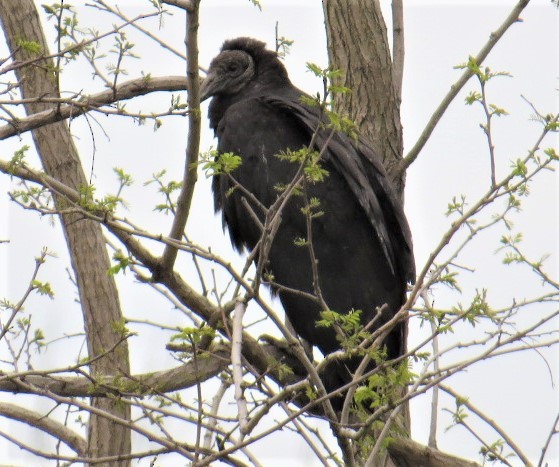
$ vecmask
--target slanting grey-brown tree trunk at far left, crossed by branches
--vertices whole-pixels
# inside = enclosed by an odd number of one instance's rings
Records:
[[[0,0],[0,6],[0,20],[14,58],[17,61],[33,58],[25,48],[19,46],[20,40],[40,44],[41,55],[48,55],[48,46],[33,1]],[[52,60],[43,59],[15,70],[24,98],[60,97],[54,66]],[[52,110],[56,104],[28,103],[25,107],[28,114],[34,114]],[[34,130],[33,140],[46,173],[76,190],[88,185],[65,122]],[[61,215],[60,219],[77,280],[87,347],[92,357],[114,347],[121,340],[121,336],[113,330],[113,324],[122,320],[118,292],[113,277],[107,274],[110,262],[100,225],[79,214]],[[114,352],[92,363],[90,372],[92,375],[129,375],[126,341],[118,345]],[[94,398],[91,403],[98,409],[130,420],[129,406],[119,404],[118,400]],[[127,454],[130,448],[129,430],[103,417],[90,416],[89,456]],[[129,461],[113,462],[111,465],[124,467],[129,465]]]

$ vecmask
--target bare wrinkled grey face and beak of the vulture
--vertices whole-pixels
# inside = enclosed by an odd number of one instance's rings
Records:
[[[242,50],[224,50],[212,60],[200,87],[200,100],[239,92],[254,77],[252,57]]]

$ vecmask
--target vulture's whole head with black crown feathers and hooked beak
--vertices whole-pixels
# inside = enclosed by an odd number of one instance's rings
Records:
[[[200,100],[289,81],[277,54],[250,37],[225,41],[200,88]]]

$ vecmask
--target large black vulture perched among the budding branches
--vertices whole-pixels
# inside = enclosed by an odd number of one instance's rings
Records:
[[[305,185],[307,199],[318,199],[323,212],[312,220],[320,291],[331,310],[361,310],[362,324],[377,317],[375,330],[400,309],[407,283],[415,278],[402,204],[370,146],[329,129],[320,106],[302,96],[306,94],[293,86],[277,54],[263,42],[247,37],[225,41],[202,83],[201,99],[212,97],[209,120],[218,154],[234,153],[242,163],[231,176],[214,177],[215,208],[222,212],[233,245],[238,250],[255,248],[264,221],[258,204],[270,207],[281,194],[278,187],[288,185],[298,168],[278,155],[306,148],[313,139],[328,171],[324,181]],[[244,190],[232,189],[236,183]],[[303,207],[303,196],[294,195],[283,208],[265,270],[297,334],[328,354],[340,349],[340,340],[333,327],[316,326],[322,308],[308,296],[316,290],[311,255],[297,242],[308,234]],[[388,358],[402,354],[405,336],[406,324],[400,322],[383,342]],[[322,375],[326,389],[347,383],[356,365],[354,359],[343,368],[327,367]]]

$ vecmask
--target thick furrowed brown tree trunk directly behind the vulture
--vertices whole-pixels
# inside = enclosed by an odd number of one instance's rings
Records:
[[[330,67],[343,72],[336,84],[351,89],[334,96],[335,110],[348,115],[372,143],[403,198],[405,178],[396,175],[403,157],[401,83],[394,76],[380,4],[378,0],[323,0],[323,8]],[[403,54],[403,44],[398,45]],[[395,423],[400,433],[410,433],[407,403]],[[383,450],[374,465],[395,464]]]

